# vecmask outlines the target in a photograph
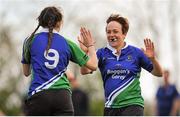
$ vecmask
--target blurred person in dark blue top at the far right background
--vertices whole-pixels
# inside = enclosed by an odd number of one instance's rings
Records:
[[[158,116],[169,116],[172,112],[175,112],[173,109],[174,101],[178,97],[178,91],[176,89],[176,86],[173,84],[170,84],[169,77],[170,73],[169,70],[164,70],[163,72],[163,80],[164,84],[163,86],[160,86],[158,88],[158,91],[156,93],[156,99],[157,99],[157,115]]]

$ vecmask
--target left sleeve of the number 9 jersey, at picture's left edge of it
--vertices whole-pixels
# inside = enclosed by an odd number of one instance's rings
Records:
[[[24,40],[23,43],[23,52],[22,52],[22,59],[21,63],[23,64],[30,64],[30,41],[28,41],[28,38]]]

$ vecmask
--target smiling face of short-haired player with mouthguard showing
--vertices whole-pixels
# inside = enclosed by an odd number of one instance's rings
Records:
[[[111,21],[106,27],[107,40],[110,46],[118,49],[124,45],[125,35],[122,33],[122,26],[116,21]]]

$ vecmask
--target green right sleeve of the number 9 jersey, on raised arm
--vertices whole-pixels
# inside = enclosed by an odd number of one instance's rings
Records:
[[[74,42],[66,39],[71,51],[71,61],[79,64],[80,66],[84,66],[89,60],[89,56],[85,54],[83,50],[80,49]]]

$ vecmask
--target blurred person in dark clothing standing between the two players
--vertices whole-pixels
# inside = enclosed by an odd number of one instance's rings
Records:
[[[80,84],[71,71],[66,72],[67,78],[72,88],[72,101],[75,116],[88,116],[89,98],[85,91],[80,88]]]

